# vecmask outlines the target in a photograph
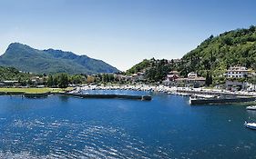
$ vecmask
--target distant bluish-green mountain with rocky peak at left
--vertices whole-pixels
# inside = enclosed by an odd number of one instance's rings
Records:
[[[0,65],[13,66],[36,74],[97,74],[116,73],[118,69],[107,63],[72,52],[47,49],[37,50],[28,45],[13,43],[0,56]]]

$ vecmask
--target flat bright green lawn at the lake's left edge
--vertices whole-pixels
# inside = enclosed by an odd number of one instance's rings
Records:
[[[26,94],[42,94],[42,93],[61,93],[68,90],[72,90],[72,87],[68,88],[0,88],[0,92],[25,92]]]

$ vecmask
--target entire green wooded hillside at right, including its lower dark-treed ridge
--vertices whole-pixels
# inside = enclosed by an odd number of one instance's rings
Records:
[[[127,71],[127,75],[145,71],[149,81],[161,81],[171,70],[186,76],[189,72],[220,78],[230,66],[241,65],[256,70],[256,27],[237,29],[218,36],[210,35],[197,48],[184,55],[177,63],[173,60],[143,60]]]

